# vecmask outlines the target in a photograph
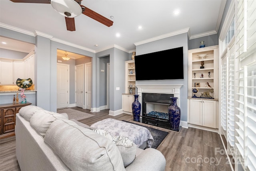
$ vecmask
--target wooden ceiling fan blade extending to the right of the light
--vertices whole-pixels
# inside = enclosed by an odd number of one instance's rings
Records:
[[[80,5],[82,8],[84,8],[84,12],[82,12],[84,15],[110,27],[113,25],[113,22],[111,20],[109,20],[108,18],[94,12],[93,10],[90,10],[89,8],[83,6],[83,5]]]

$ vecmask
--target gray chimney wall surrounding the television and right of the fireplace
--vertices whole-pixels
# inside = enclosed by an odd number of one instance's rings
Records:
[[[136,55],[142,55],[145,53],[151,53],[156,51],[162,51],[172,49],[176,47],[183,47],[183,61],[184,61],[184,79],[177,80],[151,80],[151,81],[136,81],[136,85],[160,85],[160,84],[182,84],[180,89],[180,108],[181,108],[181,120],[187,121],[187,109],[188,109],[188,34],[183,33],[172,37],[167,37],[157,41],[152,41],[142,45],[136,46]],[[156,58],[157,60],[157,58]],[[163,61],[164,62],[164,61]],[[152,66],[145,66],[152,67]],[[170,68],[172,64],[170,64]],[[154,67],[152,67],[154,70]],[[170,73],[171,74],[171,73]]]

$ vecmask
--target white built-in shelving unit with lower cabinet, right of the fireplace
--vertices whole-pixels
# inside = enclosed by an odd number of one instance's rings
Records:
[[[218,45],[188,51],[189,124],[218,128],[218,76]]]

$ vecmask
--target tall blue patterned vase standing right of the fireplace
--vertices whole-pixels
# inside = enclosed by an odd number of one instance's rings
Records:
[[[179,131],[180,128],[180,107],[177,105],[178,97],[170,97],[172,100],[168,108],[171,130]]]

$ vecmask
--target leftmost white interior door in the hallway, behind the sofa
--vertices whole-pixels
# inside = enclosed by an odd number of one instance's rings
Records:
[[[68,108],[69,65],[57,64],[57,108]]]

